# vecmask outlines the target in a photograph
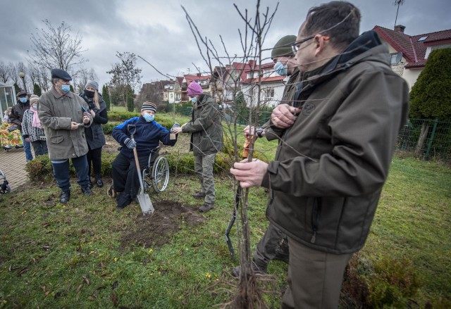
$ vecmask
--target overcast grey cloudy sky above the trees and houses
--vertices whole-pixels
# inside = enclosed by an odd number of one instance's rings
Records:
[[[264,46],[270,49],[280,37],[297,34],[311,6],[325,1],[280,0],[278,10],[267,34]],[[375,25],[393,29],[397,6],[395,0],[350,0],[362,13],[361,32]],[[238,29],[244,30],[240,11],[254,15],[255,0],[0,0],[0,61],[27,64],[27,50],[32,51],[30,36],[44,27],[48,19],[57,27],[62,21],[72,26],[73,34],[82,35],[83,53],[94,68],[99,84],[110,80],[106,74],[118,61],[116,51],[130,51],[142,56],[158,70],[181,76],[207,66],[199,54],[183,5],[203,37],[214,42],[223,56],[223,37],[230,54],[240,53]],[[273,12],[276,1],[261,0],[261,11]],[[451,29],[450,0],[405,0],[400,6],[397,24],[406,26],[409,35]],[[268,56],[268,55],[266,55]],[[194,65],[193,65],[194,63]],[[138,59],[142,82],[166,79],[150,65]]]

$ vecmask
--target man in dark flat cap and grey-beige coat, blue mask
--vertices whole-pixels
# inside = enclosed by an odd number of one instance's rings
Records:
[[[50,91],[39,99],[38,115],[47,138],[49,158],[54,169],[60,202],[70,199],[69,159],[77,171],[82,193],[92,194],[86,153],[88,151],[85,127],[92,123],[92,115],[85,100],[70,92],[72,77],[65,70],[51,70]]]

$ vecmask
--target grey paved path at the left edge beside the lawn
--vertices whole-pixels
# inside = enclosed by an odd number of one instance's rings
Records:
[[[20,188],[20,186],[28,182],[28,174],[25,172],[26,164],[27,159],[23,148],[14,148],[10,151],[4,151],[4,149],[0,148],[0,169],[4,173],[6,180],[8,180],[11,191]],[[3,179],[0,179],[0,181],[3,183]]]

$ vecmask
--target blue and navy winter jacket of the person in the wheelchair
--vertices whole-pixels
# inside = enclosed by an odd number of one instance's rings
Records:
[[[133,158],[133,150],[128,149],[124,144],[125,139],[131,138],[128,125],[136,125],[136,132],[133,137],[136,141],[136,150],[139,157],[149,156],[150,151],[158,147],[160,141],[168,146],[174,146],[177,141],[177,138],[169,139],[169,131],[155,120],[147,122],[142,116],[125,120],[121,125],[114,127],[113,138],[123,146],[121,153],[128,158]]]

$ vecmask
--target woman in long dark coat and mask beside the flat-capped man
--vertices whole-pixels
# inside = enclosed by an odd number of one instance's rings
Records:
[[[91,164],[97,187],[104,187],[104,182],[101,180],[101,147],[105,144],[105,135],[101,125],[108,122],[108,115],[106,113],[105,101],[98,90],[99,84],[93,80],[88,80],[85,90],[80,94],[89,106],[89,113],[91,113],[94,119],[90,127],[85,127],[86,141],[89,148],[87,152],[87,163],[89,167],[89,184],[91,187]]]

